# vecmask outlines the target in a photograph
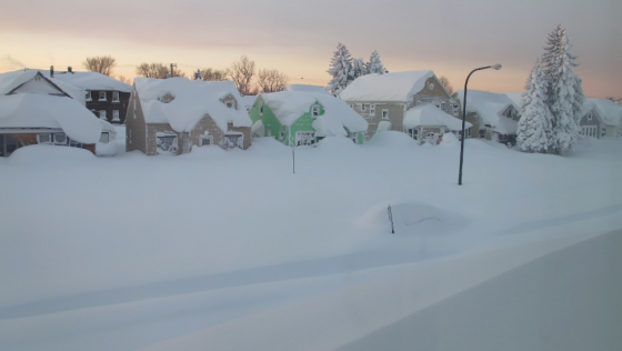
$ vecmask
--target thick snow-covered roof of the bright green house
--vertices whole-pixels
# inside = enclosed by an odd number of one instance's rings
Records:
[[[343,127],[351,132],[368,129],[364,118],[354,112],[343,100],[331,94],[279,91],[262,93],[261,97],[282,126],[293,124],[303,113],[310,111],[312,104],[319,102],[324,108],[324,113],[313,121],[313,128],[319,136],[345,136]]]

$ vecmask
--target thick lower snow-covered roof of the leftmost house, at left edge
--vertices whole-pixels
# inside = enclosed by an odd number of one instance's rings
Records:
[[[82,143],[99,140],[102,124],[73,99],[39,93],[0,96],[0,128],[52,128]]]

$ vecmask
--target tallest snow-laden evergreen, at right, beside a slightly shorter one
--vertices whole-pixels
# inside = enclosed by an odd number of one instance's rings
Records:
[[[542,57],[544,79],[548,83],[546,104],[551,110],[552,138],[550,146],[555,153],[572,150],[581,131],[579,121],[583,109],[581,79],[573,72],[575,56],[562,24],[549,34]]]

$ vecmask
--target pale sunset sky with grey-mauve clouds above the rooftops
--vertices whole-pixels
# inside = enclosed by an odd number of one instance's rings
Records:
[[[548,34],[565,28],[589,98],[622,98],[620,0],[0,0],[0,72],[68,66],[112,56],[113,74],[142,62],[190,74],[248,56],[290,83],[321,84],[339,42],[389,71],[433,70],[463,89],[522,91]]]

